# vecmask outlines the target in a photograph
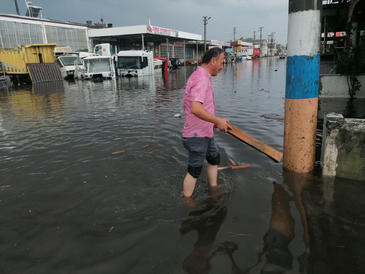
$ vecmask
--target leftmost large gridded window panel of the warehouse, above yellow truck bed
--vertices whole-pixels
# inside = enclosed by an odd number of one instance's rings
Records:
[[[9,49],[18,45],[42,44],[42,26],[0,21],[0,47]]]

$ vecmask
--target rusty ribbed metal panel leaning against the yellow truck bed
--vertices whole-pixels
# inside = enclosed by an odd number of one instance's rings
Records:
[[[63,80],[57,63],[27,64],[27,68],[33,83]]]

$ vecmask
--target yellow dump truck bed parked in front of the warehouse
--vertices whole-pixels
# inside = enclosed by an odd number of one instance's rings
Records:
[[[28,74],[29,63],[53,63],[53,51],[57,44],[18,45],[15,49],[0,49],[0,72],[9,75]]]

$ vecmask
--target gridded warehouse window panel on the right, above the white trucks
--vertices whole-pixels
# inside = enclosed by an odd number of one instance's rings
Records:
[[[46,35],[47,42],[57,46],[69,46],[72,50],[88,48],[85,30],[46,26]]]

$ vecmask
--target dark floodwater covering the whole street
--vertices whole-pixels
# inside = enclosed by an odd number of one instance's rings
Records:
[[[251,166],[219,172],[215,189],[204,168],[184,202],[195,69],[0,87],[1,273],[364,273],[365,184],[322,178],[318,157],[295,174],[216,131],[220,165]],[[285,69],[225,66],[211,78],[216,114],[282,151],[283,123],[261,115],[284,115]]]

